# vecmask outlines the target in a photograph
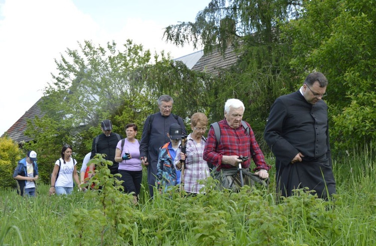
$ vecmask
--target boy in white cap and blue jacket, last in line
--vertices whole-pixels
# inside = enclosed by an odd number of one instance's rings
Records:
[[[37,153],[34,150],[28,152],[27,156],[18,162],[13,177],[18,181],[21,195],[24,190],[27,195],[36,196],[35,180],[38,179]]]

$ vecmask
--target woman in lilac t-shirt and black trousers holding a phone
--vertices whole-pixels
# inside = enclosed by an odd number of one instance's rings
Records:
[[[133,203],[136,204],[142,181],[140,143],[135,138],[137,135],[137,125],[134,123],[127,124],[125,132],[127,137],[117,143],[115,161],[119,162],[120,180],[123,181],[124,191],[128,193],[133,192]]]

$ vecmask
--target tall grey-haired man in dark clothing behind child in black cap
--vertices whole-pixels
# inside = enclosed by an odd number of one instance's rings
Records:
[[[151,197],[153,197],[153,187],[155,186],[159,148],[164,143],[170,141],[167,136],[170,125],[173,123],[179,124],[182,132],[186,134],[182,118],[171,113],[172,104],[173,99],[171,96],[159,96],[159,112],[147,116],[143,125],[140,156],[141,160],[147,166],[147,183],[149,184],[149,194]]]

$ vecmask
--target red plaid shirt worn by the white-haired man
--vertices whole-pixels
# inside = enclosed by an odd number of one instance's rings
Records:
[[[251,157],[250,144],[252,144],[253,150],[256,153],[252,156],[253,161],[256,164],[256,168],[253,170],[270,169],[271,166],[266,164],[264,154],[256,141],[255,134],[247,122],[246,123],[250,130],[249,134],[242,124],[238,128],[230,127],[226,118],[218,123],[221,129],[221,140],[217,146],[217,138],[214,134],[214,129],[213,127],[210,127],[208,139],[204,149],[204,159],[206,161],[209,161],[213,165],[217,166],[217,170],[220,170],[221,168],[234,168],[234,166],[230,164],[222,164],[222,156],[243,155]],[[242,162],[242,167],[248,168],[250,167],[250,164],[251,158]]]

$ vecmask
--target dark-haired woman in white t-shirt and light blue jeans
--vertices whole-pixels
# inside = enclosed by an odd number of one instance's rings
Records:
[[[80,188],[77,173],[77,161],[72,157],[73,149],[70,145],[64,145],[61,150],[61,158],[55,162],[51,175],[50,194],[70,194],[73,191],[73,179]]]

